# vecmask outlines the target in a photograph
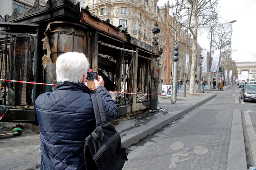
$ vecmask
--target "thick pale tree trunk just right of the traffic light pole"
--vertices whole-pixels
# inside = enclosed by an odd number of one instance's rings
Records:
[[[198,16],[194,15],[194,36],[192,40],[192,62],[191,62],[191,71],[190,71],[190,85],[189,85],[189,94],[194,95],[194,79],[195,79],[195,67],[196,67],[196,55],[197,55],[197,49],[196,49],[196,39],[197,39],[197,20]]]

